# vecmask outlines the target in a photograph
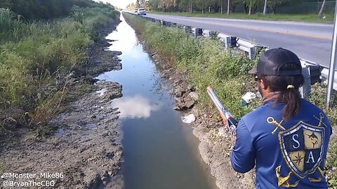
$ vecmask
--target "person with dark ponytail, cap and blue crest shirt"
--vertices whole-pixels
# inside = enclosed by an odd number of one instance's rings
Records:
[[[249,73],[256,75],[263,105],[239,121],[233,169],[256,167],[256,188],[328,188],[331,126],[321,109],[300,97],[300,59],[283,48],[267,50]]]

